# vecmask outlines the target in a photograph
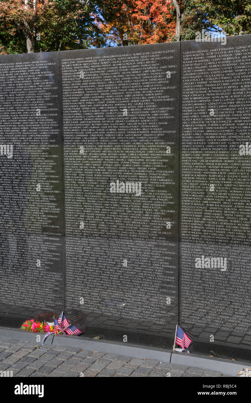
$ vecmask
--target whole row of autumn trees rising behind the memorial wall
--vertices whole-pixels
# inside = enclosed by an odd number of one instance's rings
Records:
[[[0,53],[172,42],[202,29],[242,35],[250,17],[251,0],[0,0]]]

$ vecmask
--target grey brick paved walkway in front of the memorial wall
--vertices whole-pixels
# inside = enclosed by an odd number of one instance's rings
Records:
[[[228,376],[220,372],[138,359],[75,347],[53,346],[0,337],[0,371],[13,376],[80,377],[80,376]]]

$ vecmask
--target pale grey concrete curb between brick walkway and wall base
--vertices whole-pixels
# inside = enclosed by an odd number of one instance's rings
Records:
[[[38,343],[36,341],[36,336],[38,334],[41,336],[42,341],[46,333],[31,333],[20,329],[0,327],[0,337],[34,341],[34,343],[39,344],[41,347],[41,342]],[[62,345],[68,347],[79,347],[83,350],[126,355],[134,358],[157,359],[160,362],[170,362],[171,364],[204,368],[205,370],[217,371],[230,376],[236,376],[239,370],[251,367],[251,363],[248,362],[233,362],[228,359],[206,357],[194,353],[172,352],[167,349],[157,349],[155,347],[138,346],[129,343],[118,343],[115,341],[94,340],[87,337],[64,337],[62,334],[57,334],[57,336],[54,337],[49,336],[44,345],[50,344],[55,346]]]

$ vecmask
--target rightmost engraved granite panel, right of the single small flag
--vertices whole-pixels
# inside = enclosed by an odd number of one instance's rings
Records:
[[[250,62],[251,35],[181,43],[180,322],[211,346],[251,346]]]

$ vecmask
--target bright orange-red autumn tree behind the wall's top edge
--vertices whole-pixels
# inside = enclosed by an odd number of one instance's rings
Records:
[[[109,46],[170,42],[175,37],[172,0],[103,0],[92,15]]]

